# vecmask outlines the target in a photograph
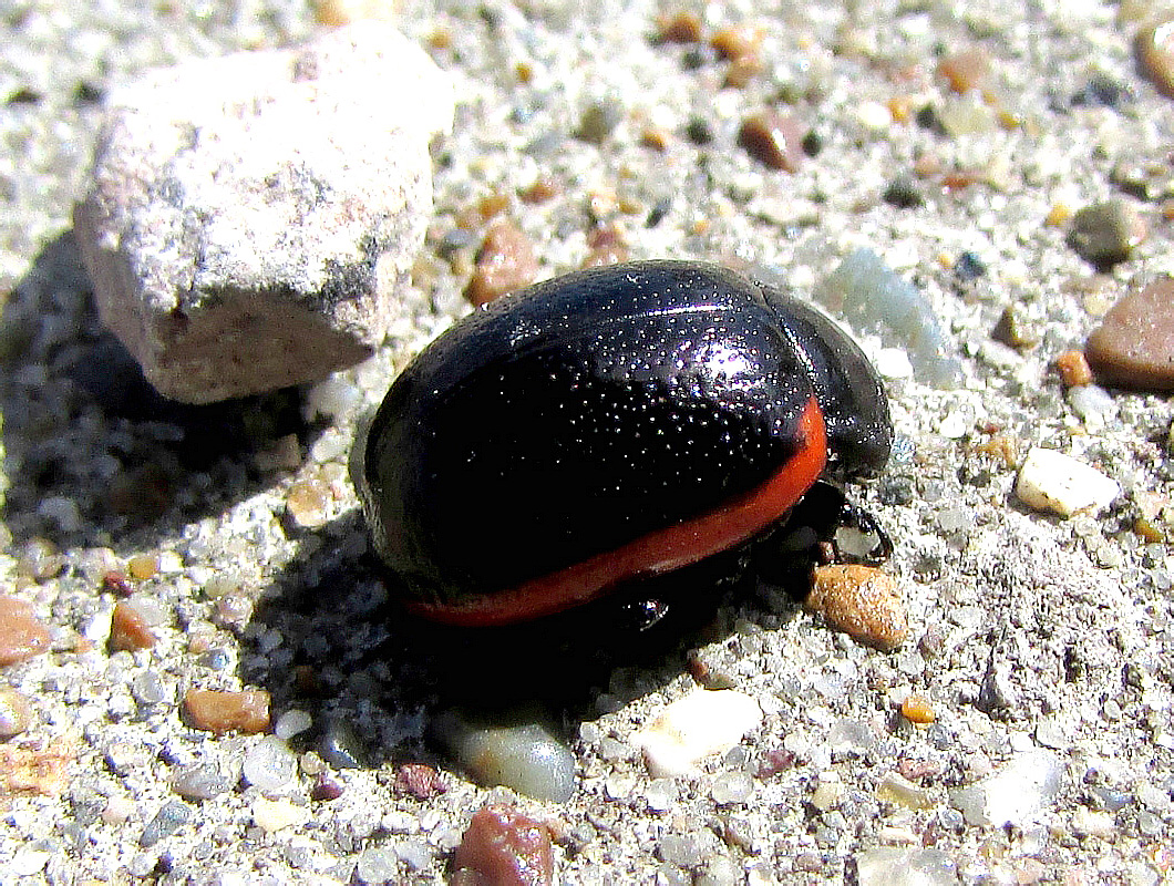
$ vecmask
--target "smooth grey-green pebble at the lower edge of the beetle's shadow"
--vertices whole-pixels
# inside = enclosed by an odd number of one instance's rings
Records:
[[[575,791],[575,758],[539,723],[479,723],[457,711],[437,717],[437,738],[478,784],[565,803]]]

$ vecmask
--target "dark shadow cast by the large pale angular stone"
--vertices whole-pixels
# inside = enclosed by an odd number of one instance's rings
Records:
[[[16,547],[149,548],[270,485],[252,453],[290,434],[304,447],[322,430],[297,388],[207,406],[157,393],[99,319],[72,230],[4,300],[0,516]]]

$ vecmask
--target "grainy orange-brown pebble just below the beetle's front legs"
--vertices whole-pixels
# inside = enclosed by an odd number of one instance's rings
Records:
[[[857,643],[889,652],[909,634],[897,582],[869,566],[821,566],[805,606]]]

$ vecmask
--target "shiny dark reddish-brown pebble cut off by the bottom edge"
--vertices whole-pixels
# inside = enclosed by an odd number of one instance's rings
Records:
[[[546,825],[513,806],[492,803],[473,813],[453,855],[451,882],[542,886],[554,882],[554,847]]]

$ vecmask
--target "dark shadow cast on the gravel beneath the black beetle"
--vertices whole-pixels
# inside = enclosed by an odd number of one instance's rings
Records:
[[[780,613],[756,596],[751,579],[728,577],[743,559],[734,552],[538,622],[457,628],[397,604],[358,509],[305,537],[313,539],[308,553],[275,577],[247,631],[275,631],[290,657],[276,664],[244,655],[251,667],[242,665],[241,678],[270,691],[275,718],[291,708],[311,713],[315,731],[297,739],[299,749],[321,746],[331,724],[348,724],[364,765],[450,764],[431,731],[451,710],[483,724],[538,721],[573,742],[583,721],[682,674],[707,685],[690,651],[729,636],[736,616],[756,621],[769,611],[777,624]],[[641,604],[650,595],[668,606],[647,624]]]

